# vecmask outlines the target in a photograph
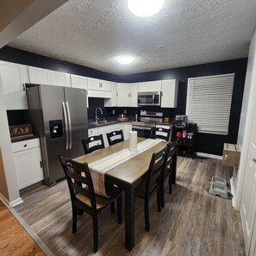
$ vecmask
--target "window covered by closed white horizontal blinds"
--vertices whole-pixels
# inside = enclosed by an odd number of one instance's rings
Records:
[[[188,79],[186,115],[200,133],[228,134],[233,85],[234,73]]]

